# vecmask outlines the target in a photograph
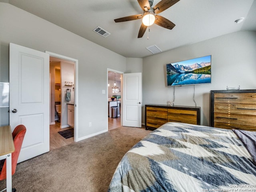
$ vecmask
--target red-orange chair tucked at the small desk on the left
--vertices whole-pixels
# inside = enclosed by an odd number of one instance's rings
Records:
[[[15,173],[22,142],[26,133],[24,125],[18,125],[12,132],[15,151],[12,153],[12,175]],[[0,160],[0,181],[6,179],[6,160]],[[12,191],[16,191],[15,188]]]

